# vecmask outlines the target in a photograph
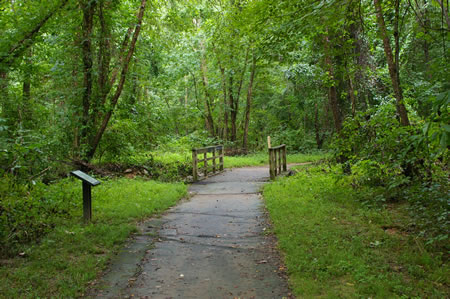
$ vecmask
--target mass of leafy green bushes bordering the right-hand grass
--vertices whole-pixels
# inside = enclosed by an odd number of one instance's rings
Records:
[[[422,129],[400,127],[389,104],[373,114],[360,114],[348,120],[335,139],[334,160],[351,170],[346,179],[353,188],[365,190],[366,205],[407,200],[427,242],[441,244],[449,230],[449,152],[441,143],[447,133],[439,121],[421,124]]]

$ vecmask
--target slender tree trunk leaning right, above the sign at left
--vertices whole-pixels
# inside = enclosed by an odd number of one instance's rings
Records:
[[[128,53],[124,59],[124,63],[122,66],[122,71],[120,74],[120,80],[119,83],[117,85],[117,89],[114,93],[114,95],[111,98],[111,103],[110,103],[110,108],[109,110],[106,112],[103,121],[101,123],[100,128],[97,131],[97,134],[95,135],[92,143],[91,143],[91,148],[87,154],[87,158],[88,159],[92,159],[92,157],[94,157],[95,151],[100,143],[100,140],[103,136],[103,133],[106,130],[106,127],[108,125],[108,122],[113,114],[114,108],[116,107],[117,101],[119,100],[119,97],[122,93],[123,90],[123,86],[125,84],[125,79],[127,77],[127,73],[128,73],[128,67],[130,65],[131,62],[131,58],[133,57],[133,53],[134,53],[134,49],[136,48],[136,42],[138,40],[139,37],[139,33],[141,31],[141,26],[142,26],[142,19],[144,17],[144,11],[145,11],[145,5],[146,5],[146,0],[141,0],[141,6],[139,8],[139,13],[138,13],[138,18],[137,18],[137,23],[136,23],[136,27],[134,29],[134,33],[133,33],[133,38],[131,39],[131,43],[130,43],[130,47],[128,49]]]

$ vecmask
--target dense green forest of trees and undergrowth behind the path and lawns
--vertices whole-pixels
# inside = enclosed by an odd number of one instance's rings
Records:
[[[0,256],[68,217],[42,194],[73,169],[182,180],[267,136],[448,253],[448,1],[5,0],[0,32]]]

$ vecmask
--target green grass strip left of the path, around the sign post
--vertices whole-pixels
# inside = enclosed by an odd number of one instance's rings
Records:
[[[78,198],[73,213],[60,220],[39,244],[24,248],[23,257],[1,260],[0,297],[77,297],[123,246],[136,222],[158,214],[186,195],[181,183],[140,179],[105,181],[93,188],[93,221],[81,222],[81,186],[78,181],[51,186]],[[75,209],[76,208],[76,209]]]

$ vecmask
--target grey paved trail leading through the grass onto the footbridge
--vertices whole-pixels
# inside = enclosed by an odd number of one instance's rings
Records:
[[[190,200],[143,225],[142,234],[100,282],[105,289],[96,296],[289,296],[273,239],[263,234],[267,225],[258,191],[267,180],[266,167],[251,167],[193,184]]]

